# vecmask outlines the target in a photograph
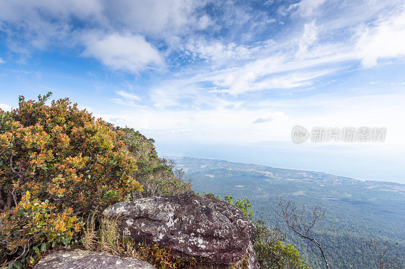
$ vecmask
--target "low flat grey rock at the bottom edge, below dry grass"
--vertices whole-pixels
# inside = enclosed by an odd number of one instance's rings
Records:
[[[113,256],[89,250],[60,250],[39,260],[34,269],[154,269],[150,263],[136,258]]]

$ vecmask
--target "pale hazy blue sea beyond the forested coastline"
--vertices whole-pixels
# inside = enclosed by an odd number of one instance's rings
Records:
[[[156,141],[156,148],[161,156],[223,159],[405,184],[405,150],[383,143],[327,145],[290,141],[254,144]]]

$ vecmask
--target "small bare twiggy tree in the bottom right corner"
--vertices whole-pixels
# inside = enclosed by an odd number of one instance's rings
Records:
[[[400,258],[398,251],[395,253],[389,252],[388,241],[381,243],[370,239],[370,242],[366,245],[366,253],[378,269],[404,268],[404,262]]]

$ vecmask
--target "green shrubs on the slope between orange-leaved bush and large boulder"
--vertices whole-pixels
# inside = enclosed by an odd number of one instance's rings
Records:
[[[137,159],[138,170],[133,173],[133,177],[143,184],[144,191],[136,192],[135,198],[191,191],[191,180],[185,181],[181,169],[174,170],[176,163],[158,157],[153,139],[147,139],[132,128],[116,129],[124,132],[127,149]]]

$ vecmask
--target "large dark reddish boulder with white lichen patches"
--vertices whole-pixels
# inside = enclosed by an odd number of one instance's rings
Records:
[[[205,264],[240,261],[256,231],[235,206],[191,193],[120,202],[103,214],[117,217],[121,233],[138,242],[157,242],[179,257],[200,257]]]

